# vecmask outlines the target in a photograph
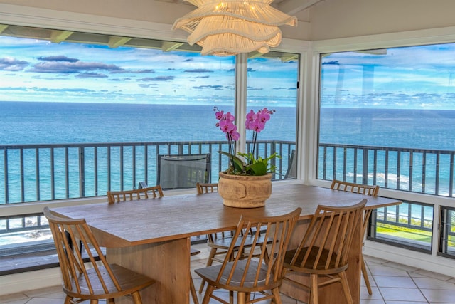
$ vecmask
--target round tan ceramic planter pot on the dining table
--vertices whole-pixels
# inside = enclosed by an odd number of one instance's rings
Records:
[[[272,174],[256,176],[231,175],[220,172],[218,193],[225,206],[256,208],[265,206],[272,194]]]

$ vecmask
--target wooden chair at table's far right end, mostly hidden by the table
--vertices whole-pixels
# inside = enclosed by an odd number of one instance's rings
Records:
[[[363,195],[369,195],[376,197],[378,196],[379,186],[378,185],[367,185],[367,184],[355,184],[351,182],[343,182],[338,179],[333,179],[331,184],[331,189],[344,191],[344,192],[352,192],[358,193]],[[367,233],[368,223],[370,221],[372,209],[364,210],[363,211],[363,220],[362,220],[362,236],[365,238],[365,234]],[[363,242],[362,242],[363,246]],[[360,252],[360,266],[362,267],[362,276],[365,280],[365,285],[368,290],[368,294],[373,295],[373,290],[371,290],[370,285],[370,278],[368,278],[368,271],[365,260],[363,258],[363,253]]]

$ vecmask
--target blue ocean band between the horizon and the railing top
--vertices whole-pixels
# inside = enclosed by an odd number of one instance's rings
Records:
[[[0,102],[0,145],[223,140],[213,106]],[[294,141],[296,109],[274,110],[259,140]],[[324,143],[455,150],[455,110],[322,108],[320,121]]]

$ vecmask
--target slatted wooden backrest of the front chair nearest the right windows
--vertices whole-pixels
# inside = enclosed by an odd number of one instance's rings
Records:
[[[361,225],[367,200],[348,207],[319,205],[291,266],[327,270],[347,266],[355,226]]]

